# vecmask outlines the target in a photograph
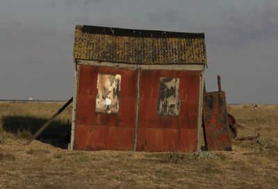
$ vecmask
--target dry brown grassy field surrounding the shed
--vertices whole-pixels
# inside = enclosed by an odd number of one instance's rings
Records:
[[[68,151],[71,108],[25,146],[60,102],[0,102],[0,188],[277,188],[278,106],[229,105],[234,151]]]

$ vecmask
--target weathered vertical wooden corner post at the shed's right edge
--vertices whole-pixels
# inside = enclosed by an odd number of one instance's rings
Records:
[[[197,135],[197,150],[201,150],[202,145],[202,116],[203,116],[203,97],[204,97],[204,71],[200,72],[199,78],[199,113],[198,113],[198,135]]]

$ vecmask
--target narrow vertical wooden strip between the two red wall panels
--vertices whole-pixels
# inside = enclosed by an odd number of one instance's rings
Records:
[[[134,126],[134,138],[133,138],[133,151],[136,151],[137,138],[138,138],[138,122],[139,122],[139,106],[140,106],[140,76],[141,69],[137,69],[137,82],[136,82],[136,117]]]

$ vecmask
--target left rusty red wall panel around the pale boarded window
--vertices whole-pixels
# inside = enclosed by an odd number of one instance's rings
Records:
[[[118,114],[95,111],[98,73],[122,76]],[[136,76],[133,69],[80,66],[74,149],[133,149]]]

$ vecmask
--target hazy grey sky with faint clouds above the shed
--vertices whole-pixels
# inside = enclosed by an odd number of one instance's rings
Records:
[[[277,20],[277,0],[1,0],[0,99],[72,97],[78,24],[205,33],[207,91],[278,104]]]

